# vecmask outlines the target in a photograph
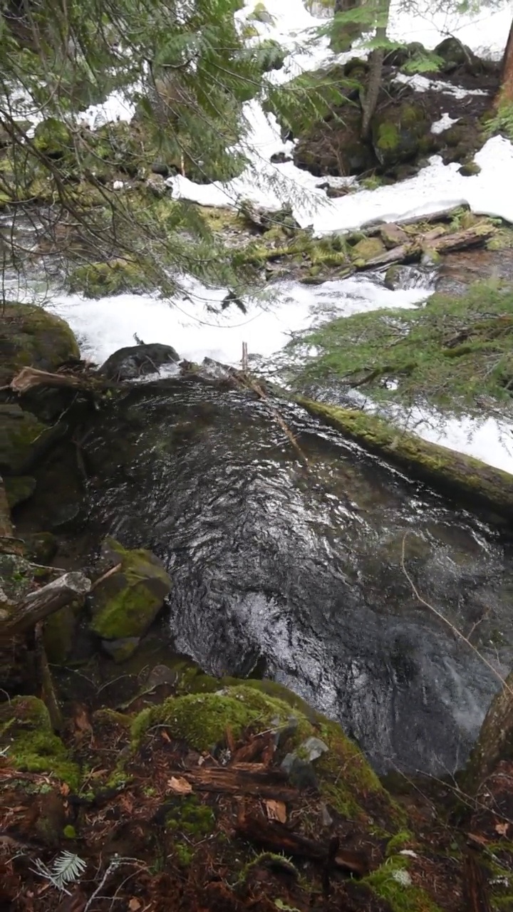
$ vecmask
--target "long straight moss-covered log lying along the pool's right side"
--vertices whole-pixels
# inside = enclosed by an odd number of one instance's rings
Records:
[[[355,409],[340,409],[303,397],[299,403],[364,449],[401,466],[471,509],[486,508],[513,519],[513,475],[446,447],[421,440],[381,418]]]

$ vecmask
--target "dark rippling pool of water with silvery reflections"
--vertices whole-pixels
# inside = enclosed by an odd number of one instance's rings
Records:
[[[100,420],[89,523],[160,554],[170,643],[214,674],[266,674],[339,719],[381,770],[453,772],[505,671],[511,561],[497,533],[302,409],[195,379],[136,386]]]

